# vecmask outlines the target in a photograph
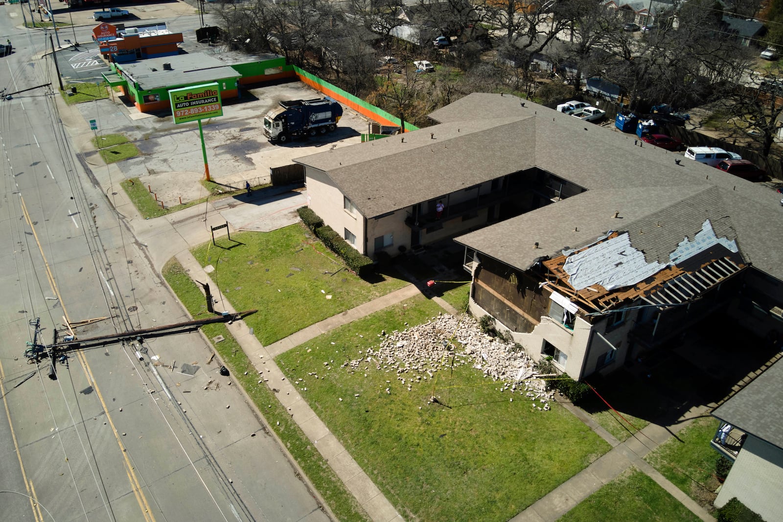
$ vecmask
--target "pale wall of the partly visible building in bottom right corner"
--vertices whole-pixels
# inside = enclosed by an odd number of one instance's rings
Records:
[[[783,449],[752,435],[737,455],[715,505],[733,497],[759,513],[764,520],[781,520],[783,513]]]

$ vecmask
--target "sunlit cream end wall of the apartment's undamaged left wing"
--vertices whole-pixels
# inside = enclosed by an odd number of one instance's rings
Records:
[[[305,167],[305,185],[307,185],[307,199],[313,212],[323,219],[324,225],[329,225],[334,232],[344,236],[348,229],[356,236],[353,245],[361,254],[364,251],[364,217],[359,211],[349,213],[343,207],[343,193],[334,185],[334,182],[325,172],[312,167]]]

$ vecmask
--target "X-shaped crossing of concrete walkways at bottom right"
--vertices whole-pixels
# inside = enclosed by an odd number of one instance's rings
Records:
[[[644,455],[668,441],[674,434],[686,427],[691,420],[703,416],[709,408],[706,406],[693,408],[680,419],[677,419],[677,423],[670,427],[661,427],[650,423],[647,427],[640,430],[636,437],[630,437],[626,441],[619,442],[581,409],[571,405],[568,401],[558,402],[579,417],[580,420],[613,447],[609,452],[590,464],[590,466],[576,473],[568,481],[560,484],[560,486],[550,491],[549,494],[539,499],[538,502],[512,518],[511,522],[551,522],[557,520],[576,507],[579,502],[582,502],[605,484],[619,477],[630,466],[637,467],[638,470],[651,477],[653,481],[668,491],[670,495],[680,501],[687,509],[690,509],[701,520],[705,520],[705,522],[715,520],[707,513],[706,509],[698,505],[698,502],[685,495],[680,488],[677,488],[677,486],[644,461]]]

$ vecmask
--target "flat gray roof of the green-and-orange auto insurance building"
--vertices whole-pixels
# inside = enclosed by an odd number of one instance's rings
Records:
[[[171,63],[171,70],[165,70],[164,63]],[[242,76],[221,60],[202,54],[148,58],[140,62],[121,63],[118,67],[127,71],[144,91]],[[233,87],[231,85],[229,88]]]

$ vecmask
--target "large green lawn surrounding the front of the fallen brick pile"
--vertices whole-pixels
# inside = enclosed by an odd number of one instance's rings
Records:
[[[434,301],[413,297],[277,361],[290,380],[301,379],[305,400],[406,520],[509,520],[609,447],[560,405],[542,412],[518,394],[509,401],[470,365],[442,370],[437,383],[412,391],[374,363],[341,368],[377,344],[382,329],[420,324],[438,311]],[[428,404],[432,395],[448,407]]]

